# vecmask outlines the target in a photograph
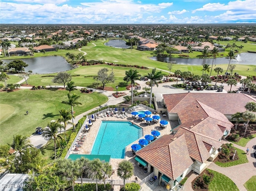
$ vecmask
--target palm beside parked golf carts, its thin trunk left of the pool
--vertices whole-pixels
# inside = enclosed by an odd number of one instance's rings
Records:
[[[49,139],[48,143],[54,140],[54,159],[56,159],[56,141],[59,142],[59,139],[62,139],[62,136],[58,134],[58,131],[62,129],[63,126],[57,121],[50,122],[46,128],[43,129],[43,137]]]

